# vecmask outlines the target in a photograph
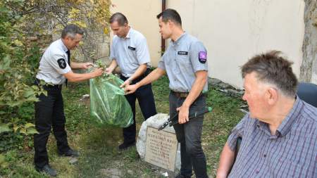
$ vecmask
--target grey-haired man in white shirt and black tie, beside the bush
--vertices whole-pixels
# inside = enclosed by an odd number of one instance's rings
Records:
[[[67,25],[62,31],[61,39],[56,40],[46,49],[39,62],[39,72],[35,83],[39,84],[41,81],[47,83],[44,85],[47,96],[39,95],[39,101],[35,103],[35,127],[39,132],[34,136],[35,169],[50,176],[56,176],[56,170],[49,166],[46,151],[51,127],[56,138],[58,154],[78,156],[77,151],[68,146],[61,94],[62,84],[65,82],[67,84],[67,80],[70,82],[88,80],[103,73],[101,68],[85,74],[73,73],[72,69],[87,69],[92,65],[92,63],[70,63],[70,50],[78,46],[83,33],[80,27]]]

